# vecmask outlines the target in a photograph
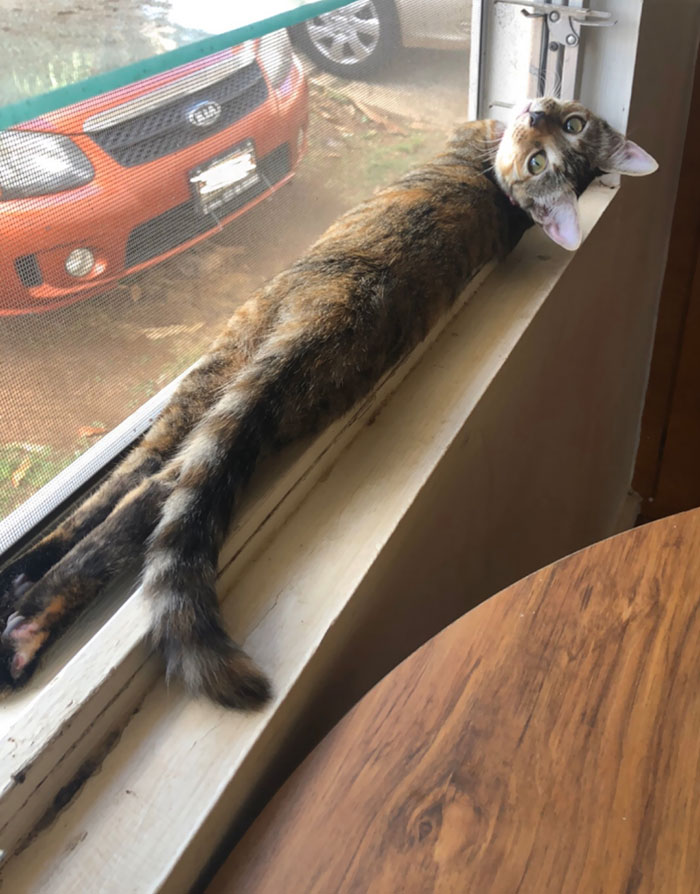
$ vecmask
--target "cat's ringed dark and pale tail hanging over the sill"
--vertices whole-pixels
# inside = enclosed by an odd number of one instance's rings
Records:
[[[178,454],[180,477],[147,552],[143,591],[168,675],[229,707],[262,704],[270,686],[222,626],[218,554],[241,489],[294,403],[304,351],[303,333],[277,334],[222,392]]]

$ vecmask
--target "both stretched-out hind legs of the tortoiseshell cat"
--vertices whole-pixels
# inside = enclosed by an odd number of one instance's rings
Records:
[[[7,624],[0,678],[4,673],[6,682],[14,685],[15,679],[19,681],[28,676],[32,656],[38,654],[73,611],[88,602],[117,573],[111,560],[113,551],[121,543],[122,520],[133,517],[133,530],[147,529],[139,542],[127,544],[129,558],[143,550],[144,541],[157,520],[151,517],[150,511],[140,519],[135,517],[139,512],[137,507],[143,502],[143,490],[158,491],[158,499],[148,507],[157,516],[165,499],[162,492],[169,492],[172,485],[169,477],[175,462],[172,457],[208,408],[216,403],[222,386],[249,362],[274,322],[278,308],[274,281],[241,305],[209,353],[180,382],[170,403],[141,443],[95,494],[3,569],[0,628],[6,621]],[[159,470],[165,464],[170,472],[163,477]],[[54,597],[61,599],[52,601]],[[24,658],[14,663],[20,640],[24,643],[20,649]],[[23,667],[18,667],[23,661]],[[12,666],[19,674],[16,678],[10,670]]]

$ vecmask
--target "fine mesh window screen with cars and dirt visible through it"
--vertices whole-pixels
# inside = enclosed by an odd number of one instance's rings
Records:
[[[31,32],[4,104],[221,33],[236,4],[28,5],[0,8]],[[466,117],[470,18],[357,0],[0,131],[0,551],[258,285],[441,147]]]

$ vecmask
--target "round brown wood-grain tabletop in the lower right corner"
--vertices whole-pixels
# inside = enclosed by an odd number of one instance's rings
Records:
[[[562,559],[382,680],[210,894],[700,892],[700,510]]]

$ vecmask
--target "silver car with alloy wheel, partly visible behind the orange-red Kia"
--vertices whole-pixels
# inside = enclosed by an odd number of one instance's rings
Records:
[[[397,46],[459,49],[469,43],[471,0],[355,0],[290,29],[319,68],[364,77]]]

